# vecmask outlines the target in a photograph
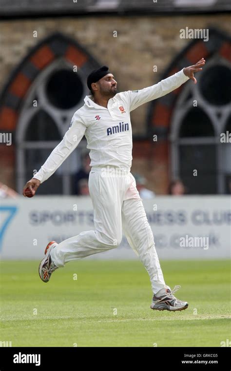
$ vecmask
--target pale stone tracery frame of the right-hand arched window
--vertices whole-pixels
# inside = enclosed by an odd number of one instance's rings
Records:
[[[170,140],[170,153],[171,153],[171,179],[178,178],[180,176],[180,161],[179,161],[179,146],[180,145],[188,145],[188,144],[214,144],[214,148],[216,151],[216,186],[217,186],[217,193],[224,194],[226,193],[225,190],[225,175],[226,173],[223,171],[222,168],[222,161],[223,161],[223,149],[222,143],[220,142],[220,134],[225,132],[225,127],[231,115],[231,104],[227,103],[224,105],[212,105],[205,100],[203,95],[200,92],[199,86],[200,81],[203,80],[203,72],[206,69],[210,68],[213,65],[224,65],[228,68],[231,68],[230,63],[225,60],[221,59],[220,56],[215,55],[211,60],[206,62],[206,66],[203,67],[203,71],[196,74],[197,83],[188,83],[183,86],[183,89],[176,101],[172,121],[171,121],[171,131],[169,135]],[[187,96],[191,93],[192,98],[185,102]],[[199,106],[209,117],[211,124],[214,130],[214,136],[203,136],[203,137],[185,137],[180,138],[180,126],[182,121],[187,114],[187,111],[192,109],[193,107],[193,100],[197,100],[197,106]],[[217,113],[220,114],[220,118],[217,117]]]

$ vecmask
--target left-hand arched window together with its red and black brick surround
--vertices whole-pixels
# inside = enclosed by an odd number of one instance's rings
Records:
[[[99,64],[75,40],[60,33],[43,39],[19,63],[0,97],[0,128],[11,132],[16,188],[43,165],[89,94],[86,79]],[[85,138],[42,187],[40,194],[75,193],[75,173],[86,154]]]

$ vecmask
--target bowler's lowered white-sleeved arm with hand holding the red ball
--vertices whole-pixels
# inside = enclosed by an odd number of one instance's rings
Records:
[[[24,186],[22,192],[23,196],[33,197],[35,195],[39,185],[47,180],[77,147],[85,130],[86,126],[84,122],[78,114],[75,114],[72,119],[72,124],[64,135],[63,140],[51,152],[38,173],[36,173]]]

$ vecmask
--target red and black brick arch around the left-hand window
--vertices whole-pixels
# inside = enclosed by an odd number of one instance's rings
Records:
[[[0,144],[0,166],[8,164],[8,175],[1,173],[1,179],[14,187],[15,168],[15,131],[20,109],[30,87],[39,74],[56,59],[66,61],[81,68],[88,74],[100,67],[98,62],[77,41],[61,33],[55,33],[35,45],[12,72],[0,95],[0,132],[12,134],[12,145]]]

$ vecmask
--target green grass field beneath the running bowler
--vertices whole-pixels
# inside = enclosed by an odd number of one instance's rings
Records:
[[[12,347],[220,347],[230,339],[230,261],[161,262],[166,283],[181,285],[176,297],[189,302],[181,312],[150,309],[139,261],[74,261],[48,283],[38,265],[0,264],[0,341]]]

